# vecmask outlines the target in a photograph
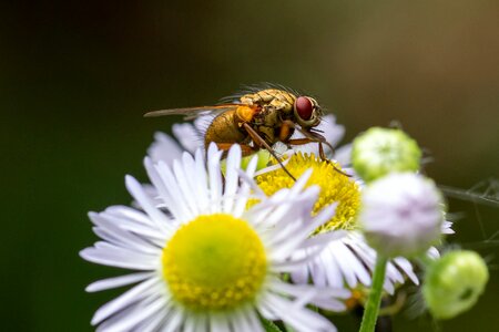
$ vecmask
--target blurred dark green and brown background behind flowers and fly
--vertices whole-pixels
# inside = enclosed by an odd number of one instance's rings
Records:
[[[434,156],[439,184],[499,177],[497,0],[2,1],[0,27],[2,331],[91,331],[94,310],[122,291],[85,293],[121,271],[78,252],[95,240],[86,212],[130,203],[125,174],[146,179],[145,149],[172,121],[144,120],[147,110],[276,82],[319,96],[344,142],[399,121]],[[438,326],[497,329],[498,247],[485,240],[499,210],[449,203],[461,216],[450,241],[479,249],[491,281],[476,308]]]

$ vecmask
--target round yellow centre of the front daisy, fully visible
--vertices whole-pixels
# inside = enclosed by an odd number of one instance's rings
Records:
[[[163,277],[173,299],[192,311],[227,311],[252,302],[267,272],[265,248],[231,215],[200,216],[166,243]]]

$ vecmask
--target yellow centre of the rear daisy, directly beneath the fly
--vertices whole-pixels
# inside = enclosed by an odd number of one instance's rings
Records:
[[[324,207],[334,203],[338,204],[335,216],[317,228],[314,234],[333,229],[357,228],[356,216],[360,205],[359,186],[338,172],[342,170],[338,164],[332,160],[320,160],[314,154],[294,154],[286,164],[286,169],[295,178],[298,178],[308,168],[312,168],[313,173],[307,186],[320,187],[320,194],[312,214],[315,216]],[[283,188],[291,188],[295,184],[283,168],[257,176],[256,183],[266,195],[273,195]]]

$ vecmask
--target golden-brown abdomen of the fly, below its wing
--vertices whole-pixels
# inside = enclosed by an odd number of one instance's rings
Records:
[[[237,125],[235,110],[218,114],[206,129],[204,146],[210,143],[242,143],[247,138]]]

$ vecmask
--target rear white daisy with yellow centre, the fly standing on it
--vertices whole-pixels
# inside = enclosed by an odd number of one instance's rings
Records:
[[[346,236],[330,241],[307,264],[293,271],[292,279],[297,283],[308,283],[312,280],[319,287],[343,287],[344,284],[350,289],[359,284],[369,287],[376,263],[376,251],[367,245],[357,222],[363,183],[346,177],[335,167],[340,169],[338,164],[302,153],[293,155],[286,164],[286,168],[295,177],[312,168],[313,174],[308,178],[307,186],[320,187],[319,198],[313,207],[313,215],[319,214],[325,206],[337,204],[333,218],[317,227],[312,232],[312,238],[336,230],[347,232]],[[282,169],[263,173],[256,176],[255,181],[267,195],[293,186],[293,179]],[[451,232],[449,222],[444,222],[442,231]],[[438,257],[438,251],[431,248],[428,255]],[[419,283],[411,263],[406,258],[391,259],[387,266],[384,289],[390,294],[394,293],[396,284],[404,283],[406,277],[414,283]]]

